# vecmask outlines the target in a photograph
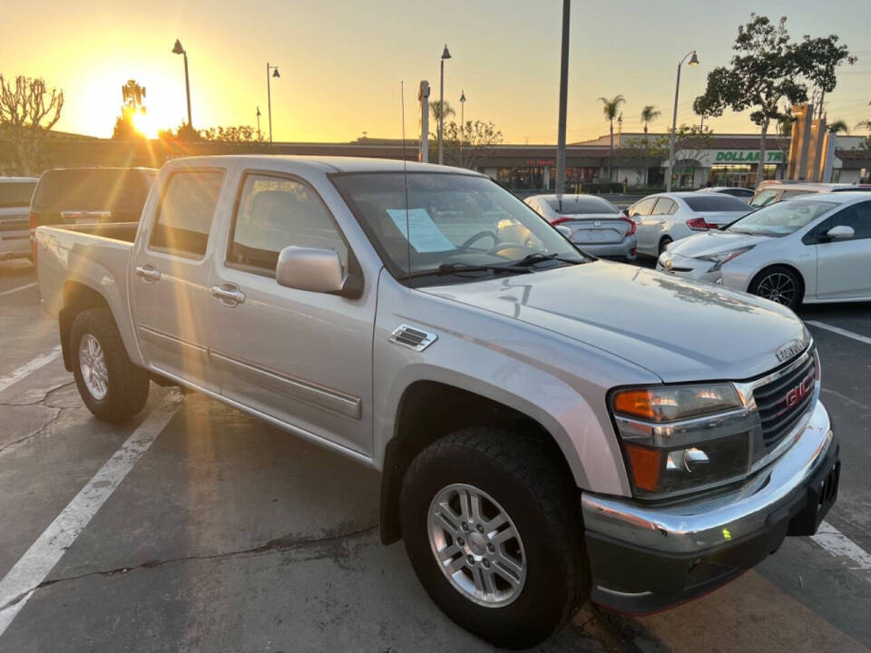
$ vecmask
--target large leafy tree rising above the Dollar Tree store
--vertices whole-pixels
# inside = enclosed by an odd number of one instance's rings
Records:
[[[831,93],[837,83],[836,68],[855,63],[838,37],[805,35],[800,42],[790,39],[786,16],[772,24],[766,16],[751,14],[748,24],[740,25],[732,49],[736,52],[729,66],[719,66],[708,74],[708,87],[694,107],[704,115],[719,116],[725,109],[743,112],[761,128],[757,183],[762,181],[766,136],[771,122],[784,112],[781,102],[807,102],[808,87]]]

